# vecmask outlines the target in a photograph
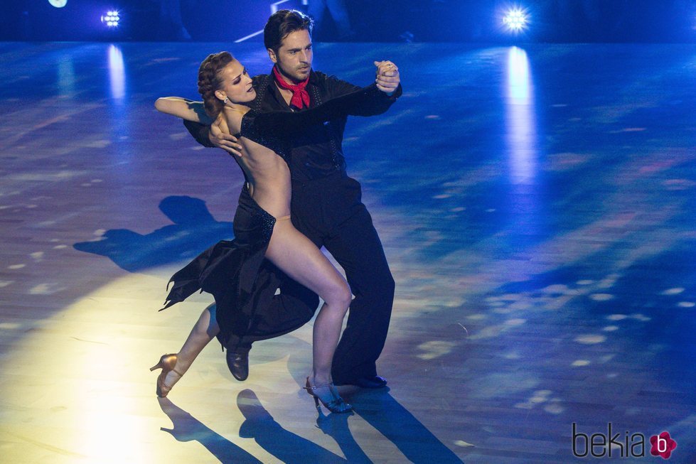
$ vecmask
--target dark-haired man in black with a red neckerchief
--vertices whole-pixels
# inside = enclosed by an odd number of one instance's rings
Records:
[[[358,88],[311,69],[311,28],[311,18],[299,11],[281,10],[269,18],[264,45],[274,68],[268,75],[254,77],[257,98],[252,108],[262,112],[301,111]],[[375,66],[374,85],[381,92],[374,92],[373,102],[365,106],[363,116],[387,111],[402,93],[397,67],[388,61],[375,62]],[[370,213],[361,201],[360,183],[346,174],[341,149],[346,119],[332,120],[294,141],[289,162],[292,222],[341,264],[355,296],[333,358],[333,382],[380,388],[387,381],[378,376],[375,362],[387,337],[395,284]],[[214,124],[185,124],[200,144],[240,156],[237,139],[223,134]],[[307,298],[298,299],[296,307],[288,311],[297,311],[298,318],[307,314],[311,318],[318,300],[311,301],[314,308],[309,312],[311,303]],[[235,378],[246,378],[251,342],[275,336],[271,335],[272,328],[267,334],[242,338],[237,348],[228,347],[227,365]]]

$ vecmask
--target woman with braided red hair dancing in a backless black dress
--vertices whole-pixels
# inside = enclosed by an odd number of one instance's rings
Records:
[[[250,330],[259,304],[267,304],[271,285],[259,285],[257,276],[264,258],[324,301],[314,323],[313,369],[304,387],[318,406],[346,412],[346,404],[331,382],[331,361],[350,305],[350,288],[321,251],[292,225],[291,184],[285,157],[291,139],[312,126],[351,114],[374,86],[330,100],[303,112],[259,113],[245,106],[255,96],[245,68],[227,52],[208,56],[200,65],[198,90],[203,105],[176,97],[161,98],[156,108],[183,119],[210,124],[218,119],[223,130],[235,134],[242,145],[236,158],[245,174],[245,185],[235,213],[233,241],[223,241],[200,254],[172,277],[174,285],[165,308],[183,301],[199,288],[215,296],[215,314],[206,308],[191,335],[176,355],[164,355],[157,394],[166,396],[198,352],[214,336],[227,350],[240,341],[235,330]],[[205,111],[203,111],[203,109]],[[266,290],[266,291],[264,291]],[[263,297],[263,294],[266,297]],[[289,327],[291,324],[289,324]]]

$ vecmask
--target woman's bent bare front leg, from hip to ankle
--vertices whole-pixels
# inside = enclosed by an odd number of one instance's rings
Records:
[[[352,298],[346,279],[290,220],[277,220],[266,257],[291,279],[314,291],[323,301],[312,334],[314,384],[331,382],[331,361]]]

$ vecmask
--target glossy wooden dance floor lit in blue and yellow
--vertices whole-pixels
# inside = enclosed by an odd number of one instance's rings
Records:
[[[0,43],[0,461],[642,463],[664,431],[696,462],[695,45],[316,45],[405,89],[346,131],[397,283],[390,389],[350,416],[300,389],[311,323],[246,382],[213,342],[155,395],[212,301],[159,313],[166,281],[231,237],[242,175],[153,104],[224,49],[269,70],[260,43]]]

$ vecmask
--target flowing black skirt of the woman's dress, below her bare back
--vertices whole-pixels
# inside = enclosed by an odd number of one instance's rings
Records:
[[[235,213],[235,239],[216,243],[177,271],[163,309],[199,289],[213,294],[218,340],[227,349],[278,337],[307,323],[318,297],[264,258],[275,222],[245,185]]]

